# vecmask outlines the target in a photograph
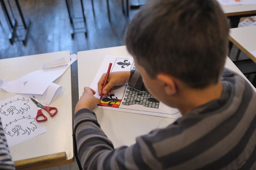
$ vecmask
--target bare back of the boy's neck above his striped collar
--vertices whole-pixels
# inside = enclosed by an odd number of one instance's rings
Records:
[[[199,90],[185,88],[180,94],[182,97],[180,98],[181,101],[179,102],[180,105],[178,106],[178,109],[184,116],[193,108],[220,98],[222,90],[223,86],[220,81],[217,84]]]

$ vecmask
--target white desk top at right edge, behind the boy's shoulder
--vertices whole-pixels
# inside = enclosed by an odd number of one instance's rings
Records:
[[[256,26],[230,29],[229,36],[230,41],[256,63],[256,57],[251,54],[256,51]]]

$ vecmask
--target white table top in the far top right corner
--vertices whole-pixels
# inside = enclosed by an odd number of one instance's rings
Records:
[[[226,16],[256,14],[256,4],[222,5],[221,7]]]

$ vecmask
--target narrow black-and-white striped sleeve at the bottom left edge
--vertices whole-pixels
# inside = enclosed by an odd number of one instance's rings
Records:
[[[0,118],[0,169],[1,170],[15,170],[12,157],[8,149],[8,144],[5,139],[3,125]]]

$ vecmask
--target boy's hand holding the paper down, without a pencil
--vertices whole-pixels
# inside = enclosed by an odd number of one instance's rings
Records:
[[[93,109],[97,104],[100,103],[100,100],[94,97],[96,93],[93,89],[89,87],[84,87],[83,95],[80,97],[78,103],[76,104],[75,113],[80,109]]]

